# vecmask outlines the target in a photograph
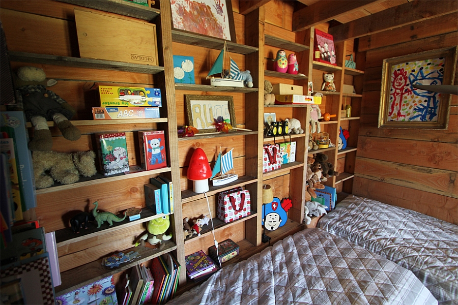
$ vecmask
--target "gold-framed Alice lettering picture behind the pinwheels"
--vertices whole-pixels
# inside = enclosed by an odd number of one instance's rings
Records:
[[[233,97],[185,95],[185,100],[188,125],[199,132],[216,132],[212,123],[218,116],[229,119],[231,125],[237,127]]]

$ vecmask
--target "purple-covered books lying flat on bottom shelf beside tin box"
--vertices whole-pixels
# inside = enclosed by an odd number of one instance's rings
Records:
[[[216,271],[215,262],[204,251],[199,250],[186,256],[186,274],[194,282],[207,279]]]

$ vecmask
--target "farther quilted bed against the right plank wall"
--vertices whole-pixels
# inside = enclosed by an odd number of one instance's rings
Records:
[[[411,270],[439,303],[458,303],[458,226],[354,195],[317,226]]]

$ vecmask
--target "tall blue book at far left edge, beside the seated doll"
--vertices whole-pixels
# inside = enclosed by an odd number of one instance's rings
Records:
[[[28,133],[25,128],[25,115],[22,111],[3,111],[0,115],[0,126],[14,129],[14,140],[19,158],[20,179],[24,192],[25,209],[37,206],[35,178],[33,173],[32,153],[28,149]]]

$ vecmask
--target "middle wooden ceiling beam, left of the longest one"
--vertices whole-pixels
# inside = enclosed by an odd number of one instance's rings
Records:
[[[381,1],[382,0],[319,1],[293,13],[293,32],[303,31],[311,26],[328,22],[346,14],[351,14]]]

